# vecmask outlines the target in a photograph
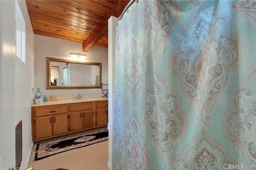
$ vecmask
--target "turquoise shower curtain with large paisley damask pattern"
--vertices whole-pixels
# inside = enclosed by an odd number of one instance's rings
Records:
[[[134,2],[115,73],[112,169],[256,170],[256,1]]]

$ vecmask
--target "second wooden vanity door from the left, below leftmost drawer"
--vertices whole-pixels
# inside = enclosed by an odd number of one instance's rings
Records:
[[[68,132],[68,114],[53,115],[53,135]]]

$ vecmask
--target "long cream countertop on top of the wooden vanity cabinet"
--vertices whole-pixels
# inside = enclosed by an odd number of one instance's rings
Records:
[[[81,103],[81,102],[89,102],[89,101],[104,101],[108,100],[107,97],[92,97],[92,98],[84,98],[84,99],[73,99],[73,100],[59,100],[59,101],[47,101],[41,104],[32,104],[31,107],[38,106],[48,106],[48,105],[61,105],[61,104],[69,104],[69,103]]]

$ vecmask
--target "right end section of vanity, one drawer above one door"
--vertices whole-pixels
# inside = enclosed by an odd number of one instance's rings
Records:
[[[108,125],[108,101],[96,101],[96,127]]]

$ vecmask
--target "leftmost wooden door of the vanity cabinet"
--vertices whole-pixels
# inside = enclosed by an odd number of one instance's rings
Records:
[[[35,118],[35,138],[46,138],[52,136],[52,116]]]

